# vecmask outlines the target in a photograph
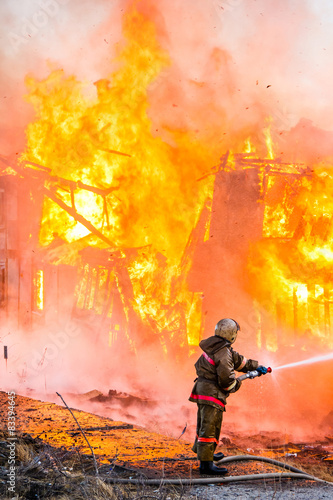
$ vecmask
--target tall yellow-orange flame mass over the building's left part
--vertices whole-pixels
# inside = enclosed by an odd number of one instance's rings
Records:
[[[125,311],[132,307],[163,333],[163,344],[164,335],[175,334],[181,344],[197,343],[198,298],[187,288],[182,255],[212,189],[211,178],[197,180],[213,156],[186,130],[172,131],[174,143],[168,144],[152,129],[149,86],[169,58],[154,24],[135,8],[124,16],[123,29],[119,68],[94,88],[62,71],[44,81],[27,78],[36,120],[27,129],[22,162],[48,169],[39,241],[52,245],[56,237],[111,247],[117,252],[111,281]],[[123,267],[131,286],[121,283]],[[89,266],[85,270],[83,281],[91,279]],[[98,283],[93,280],[90,297],[78,292],[78,304],[102,314],[95,288],[102,300],[112,283],[102,266],[93,273]]]

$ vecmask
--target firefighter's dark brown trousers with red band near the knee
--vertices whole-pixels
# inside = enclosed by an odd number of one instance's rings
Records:
[[[192,450],[198,460],[211,462],[220,438],[223,411],[205,404],[197,406],[197,434]]]

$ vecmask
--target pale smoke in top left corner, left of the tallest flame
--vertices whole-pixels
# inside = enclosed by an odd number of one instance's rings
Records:
[[[110,15],[114,24],[104,26]],[[93,82],[110,71],[112,47],[121,32],[120,2],[97,0],[14,0],[1,2],[1,121],[2,154],[20,154],[24,129],[34,118],[25,102],[25,77],[45,78],[64,69]]]

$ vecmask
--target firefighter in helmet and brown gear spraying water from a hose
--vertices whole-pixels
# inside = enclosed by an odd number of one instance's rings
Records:
[[[215,327],[215,335],[199,344],[203,353],[195,363],[197,378],[189,400],[198,405],[197,435],[192,450],[200,461],[200,474],[228,472],[225,467],[214,464],[224,456],[214,452],[219,442],[226,399],[241,386],[235,370],[245,373],[257,370],[260,375],[267,373],[267,368],[258,366],[258,361],[246,359],[231,347],[239,329],[237,321],[221,319]]]

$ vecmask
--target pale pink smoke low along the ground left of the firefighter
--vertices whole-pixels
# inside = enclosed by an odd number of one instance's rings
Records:
[[[187,404],[193,360],[180,368],[152,345],[136,354],[122,342],[108,349],[98,331],[75,322],[29,334],[2,326],[0,339],[8,346],[8,360],[0,366],[3,390],[57,404],[59,392],[75,407],[173,437],[195,420],[195,407]],[[102,403],[79,396],[98,391],[107,397],[109,390],[118,398]]]

